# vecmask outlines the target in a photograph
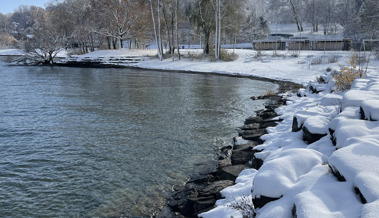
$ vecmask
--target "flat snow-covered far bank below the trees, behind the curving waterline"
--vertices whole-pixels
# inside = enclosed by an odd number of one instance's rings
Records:
[[[167,58],[159,61],[154,58],[156,50],[99,50],[84,55],[75,55],[78,59],[99,59],[117,57],[145,57],[133,66],[145,69],[175,70],[189,72],[209,72],[227,75],[254,76],[290,81],[306,85],[323,74],[327,67],[337,69],[337,62],[345,63],[350,52],[344,51],[262,51],[248,49],[228,49],[235,52],[238,59],[232,62],[200,59],[201,49],[181,49],[182,60]]]

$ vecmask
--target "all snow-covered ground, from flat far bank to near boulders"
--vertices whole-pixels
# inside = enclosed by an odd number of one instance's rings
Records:
[[[232,50],[229,50],[230,52]],[[273,200],[257,208],[257,217],[377,217],[379,214],[379,61],[370,60],[368,76],[346,92],[335,91],[331,73],[346,65],[350,52],[272,51],[257,55],[235,50],[233,62],[193,58],[201,50],[182,50],[180,61],[159,61],[155,50],[96,51],[79,58],[149,56],[137,64],[147,69],[257,76],[308,85],[299,96],[283,94],[287,105],[276,111],[283,119],[269,127],[264,144],[254,149],[264,160],[257,171],[242,171],[236,185],[222,191],[225,199],[203,217],[242,217],[236,206],[252,199]],[[1,51],[0,51],[1,54]],[[279,55],[278,55],[279,54]],[[330,61],[337,59],[337,62]],[[322,77],[325,83],[316,82]],[[310,87],[313,87],[312,89]],[[319,90],[313,93],[312,90]],[[293,131],[296,117],[297,128]],[[304,140],[304,129],[323,137]]]

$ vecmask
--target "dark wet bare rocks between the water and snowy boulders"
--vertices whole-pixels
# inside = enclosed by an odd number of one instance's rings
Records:
[[[296,92],[302,86],[291,82],[275,81],[279,85],[278,93]],[[220,191],[234,185],[239,173],[248,168],[259,169],[263,162],[253,158],[253,148],[263,143],[260,137],[267,133],[266,128],[276,126],[280,122],[275,109],[285,105],[286,100],[278,94],[252,97],[252,100],[267,99],[265,109],[256,111],[256,116],[245,120],[234,137],[233,145],[219,151],[217,170],[188,181],[184,186],[173,187],[167,207],[157,217],[197,217],[198,214],[214,208],[222,196]],[[262,199],[264,201],[265,199]],[[258,203],[258,202],[257,202]],[[264,202],[261,202],[264,204]]]

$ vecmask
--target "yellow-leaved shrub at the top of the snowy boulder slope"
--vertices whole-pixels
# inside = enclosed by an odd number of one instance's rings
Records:
[[[366,76],[366,71],[364,71],[360,65],[357,65],[358,60],[359,57],[354,53],[354,50],[352,50],[348,65],[340,66],[341,70],[336,71],[333,78],[338,90],[348,90],[356,78]]]

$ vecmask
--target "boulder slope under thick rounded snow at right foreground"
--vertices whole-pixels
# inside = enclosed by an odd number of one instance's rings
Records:
[[[276,110],[283,122],[254,148],[261,168],[243,171],[202,217],[242,217],[241,204],[256,204],[257,217],[377,216],[379,73],[370,71],[345,93],[330,93],[331,85],[312,82],[302,97],[287,97]],[[259,205],[262,199],[268,203]]]

